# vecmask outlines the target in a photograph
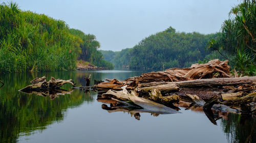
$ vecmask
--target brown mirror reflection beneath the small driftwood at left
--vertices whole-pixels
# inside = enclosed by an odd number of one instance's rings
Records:
[[[56,97],[59,97],[59,95],[71,94],[72,92],[73,92],[73,90],[67,91],[67,90],[62,90],[62,89],[53,89],[51,91],[41,91],[41,92],[39,92],[39,91],[27,91],[27,92],[23,92],[23,93],[35,94],[35,95],[44,96],[44,97],[49,96],[53,100]]]

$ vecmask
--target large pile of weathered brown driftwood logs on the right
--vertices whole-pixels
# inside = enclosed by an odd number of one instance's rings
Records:
[[[134,105],[141,107],[140,111],[146,110],[141,104],[152,106],[153,102],[164,106],[162,109],[167,112],[169,107],[178,111],[179,103],[189,102],[187,109],[202,108],[214,124],[216,119],[212,111],[255,114],[256,76],[232,77],[227,63],[217,59],[206,64],[194,64],[190,68],[144,73],[123,81],[108,79],[108,82],[101,82],[94,88],[98,89],[98,101],[110,103],[111,107],[102,105],[109,111],[131,111]],[[148,112],[165,113],[158,111],[153,109]],[[137,119],[139,115],[136,113],[133,115]],[[172,113],[175,112],[172,110]]]

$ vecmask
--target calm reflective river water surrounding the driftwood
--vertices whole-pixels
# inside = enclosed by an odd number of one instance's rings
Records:
[[[141,71],[73,71],[1,74],[0,142],[255,142],[256,120],[251,115],[215,113],[213,124],[202,110],[155,115],[101,108],[97,93],[80,91],[71,85],[62,89],[69,94],[39,96],[18,90],[35,77],[73,79],[76,86],[104,78],[119,80],[138,76]],[[93,84],[91,82],[91,84]],[[0,83],[1,84],[1,83]],[[217,120],[218,119],[218,120]]]

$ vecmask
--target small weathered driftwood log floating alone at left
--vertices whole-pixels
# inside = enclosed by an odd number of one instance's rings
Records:
[[[45,77],[37,78],[37,79],[44,79],[44,78]],[[31,81],[31,83],[34,82],[34,84],[28,85],[27,87],[21,89],[20,91],[22,91],[22,92],[50,91],[52,89],[59,89],[60,87],[62,87],[63,84],[66,84],[66,83],[71,83],[73,85],[73,87],[75,87],[75,84],[73,82],[71,82],[72,79],[62,80],[62,79],[55,79],[54,77],[51,77],[51,79],[49,81],[45,81],[45,80],[38,81],[37,79],[34,79]]]

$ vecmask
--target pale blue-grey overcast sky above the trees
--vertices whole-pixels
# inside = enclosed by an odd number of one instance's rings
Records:
[[[0,0],[3,2],[2,0]],[[9,1],[4,1],[9,2]],[[240,0],[13,0],[20,9],[66,21],[94,34],[102,50],[131,48],[172,26],[179,32],[220,31]]]

